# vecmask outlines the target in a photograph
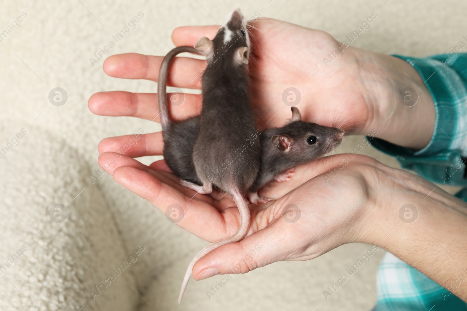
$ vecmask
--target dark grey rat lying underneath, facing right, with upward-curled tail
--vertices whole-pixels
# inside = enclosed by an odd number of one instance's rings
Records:
[[[192,47],[177,47],[167,54],[161,65],[158,100],[159,110],[161,111],[161,123],[163,129],[165,129],[163,131],[163,155],[165,162],[177,177],[202,186],[192,159],[193,147],[198,138],[200,117],[191,117],[183,121],[172,121],[168,112],[167,95],[165,92],[167,69],[173,58],[182,52],[203,53]],[[164,107],[166,108],[164,109]],[[253,138],[259,136],[261,160],[255,182],[249,187],[248,192],[256,192],[262,186],[266,186],[278,174],[284,173],[300,164],[319,159],[340,144],[341,139],[337,137],[338,134],[342,133],[340,129],[304,122],[301,120],[300,112],[296,107],[292,107],[291,111],[292,119],[289,124],[262,132],[259,130],[255,131]],[[164,121],[162,121],[163,115],[168,116]],[[290,151],[280,150],[271,142],[271,138],[275,135],[287,135],[292,139],[293,144],[290,146]],[[316,145],[308,145],[306,143],[306,138],[311,135],[318,138]],[[236,154],[239,154],[239,152]],[[240,172],[242,172],[242,169]]]

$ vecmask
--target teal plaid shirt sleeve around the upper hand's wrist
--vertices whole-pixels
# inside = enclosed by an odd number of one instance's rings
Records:
[[[467,186],[467,53],[427,58],[394,56],[417,69],[433,97],[436,109],[433,137],[419,151],[378,138],[371,139],[371,144],[395,156],[403,168],[428,180]]]

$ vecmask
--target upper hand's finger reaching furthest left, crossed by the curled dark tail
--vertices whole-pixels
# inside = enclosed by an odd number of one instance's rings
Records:
[[[170,115],[173,120],[185,120],[199,115],[200,95],[177,93],[174,96],[177,96],[178,101],[170,105]],[[160,122],[157,94],[153,93],[99,92],[89,97],[88,107],[92,113],[99,116],[140,117]]]

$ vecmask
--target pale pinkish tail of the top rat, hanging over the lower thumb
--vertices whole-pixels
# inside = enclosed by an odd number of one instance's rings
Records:
[[[240,228],[238,229],[237,233],[235,233],[232,237],[220,240],[218,242],[214,242],[206,246],[198,253],[198,255],[195,256],[195,258],[193,258],[190,265],[188,266],[188,269],[186,270],[182,283],[182,288],[180,290],[180,295],[178,296],[178,303],[182,301],[186,285],[188,285],[188,281],[190,281],[191,270],[193,270],[193,266],[195,265],[195,263],[213,249],[217,249],[219,246],[222,246],[227,243],[238,242],[242,240],[248,233],[248,228],[250,228],[250,210],[248,208],[248,202],[247,200],[245,200],[245,198],[238,189],[233,189],[233,192],[231,194],[233,195],[233,200],[237,204],[238,210],[240,211]]]

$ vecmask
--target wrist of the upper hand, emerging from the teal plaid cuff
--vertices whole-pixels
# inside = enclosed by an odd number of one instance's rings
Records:
[[[365,54],[363,54],[363,52]],[[415,150],[430,142],[436,110],[430,91],[408,62],[379,53],[360,50],[362,80],[372,95],[373,118],[365,132],[377,131],[377,138]]]

